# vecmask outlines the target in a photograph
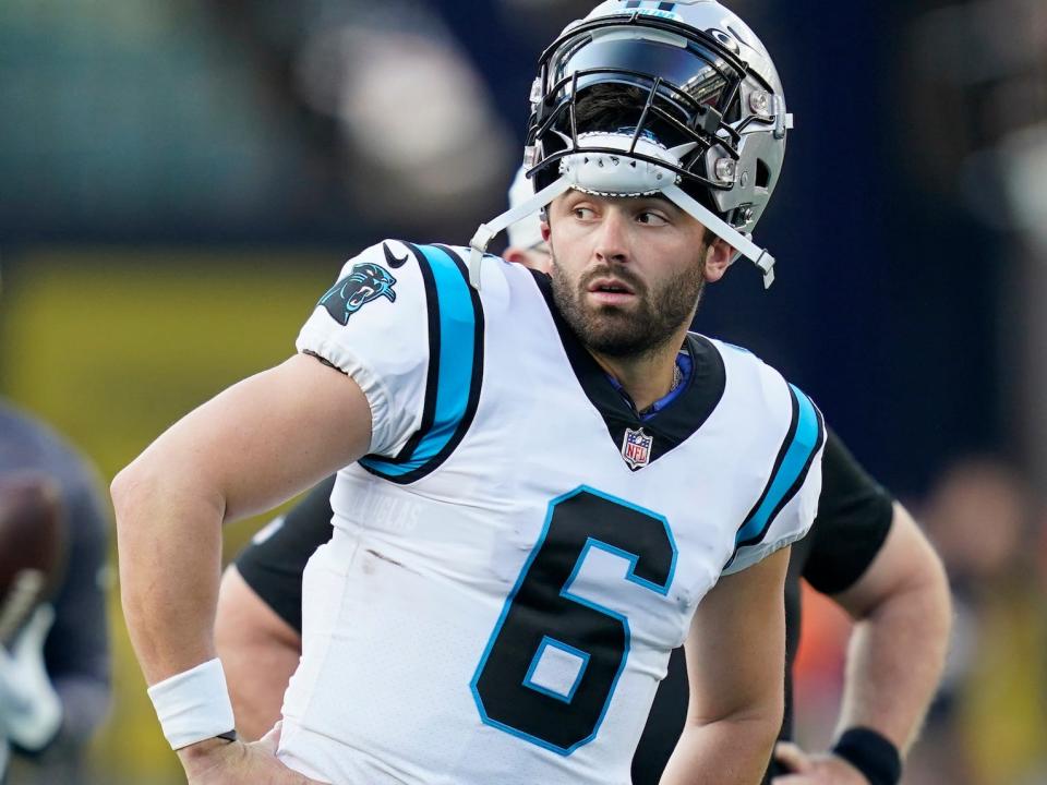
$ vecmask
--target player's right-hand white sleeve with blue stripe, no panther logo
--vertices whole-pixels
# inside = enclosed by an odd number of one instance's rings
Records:
[[[777,373],[774,376],[781,379]],[[763,492],[737,531],[734,555],[723,575],[751,567],[799,540],[810,529],[818,511],[825,421],[818,407],[802,390],[793,385],[786,385],[786,390],[785,436]]]

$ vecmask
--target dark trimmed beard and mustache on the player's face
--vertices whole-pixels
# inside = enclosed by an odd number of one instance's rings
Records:
[[[702,243],[699,259],[705,252]],[[552,259],[553,299],[561,315],[588,349],[605,357],[641,357],[664,347],[681,325],[689,326],[706,283],[700,262],[652,288],[623,265],[600,265],[573,281],[557,264],[555,253]],[[636,302],[627,307],[587,302],[589,283],[604,276],[627,283]]]

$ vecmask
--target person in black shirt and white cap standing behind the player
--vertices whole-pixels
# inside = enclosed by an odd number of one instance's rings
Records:
[[[509,190],[510,207],[533,195],[525,171],[519,170]],[[551,271],[552,258],[537,216],[513,225],[508,237],[505,259]],[[872,749],[886,760],[856,759],[855,763],[874,772],[864,777],[840,754],[807,754],[795,745],[782,745],[768,778],[795,772],[797,776],[781,782],[880,783],[883,769],[900,771],[937,686],[949,629],[948,587],[940,561],[910,515],[831,431],[822,478],[815,526],[793,545],[790,556],[786,713],[780,738],[787,741],[793,732],[791,665],[799,638],[803,577],[832,595],[858,624],[838,736],[864,728],[865,735],[857,735],[866,745],[859,754]],[[222,578],[215,643],[238,729],[246,738],[260,738],[277,722],[284,692],[298,667],[302,573],[310,556],[332,536],[333,486],[334,478],[328,478],[290,512],[261,530]],[[687,695],[686,667],[677,649],[634,758],[635,785],[655,785],[661,778],[684,727]],[[845,747],[840,751],[853,753]],[[896,778],[896,774],[887,776]]]

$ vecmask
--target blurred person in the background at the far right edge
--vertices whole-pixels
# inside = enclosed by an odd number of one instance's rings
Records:
[[[992,458],[958,461],[927,505],[928,534],[956,605],[941,693],[913,761],[913,785],[1039,785],[1047,781],[1047,616],[1037,500]]]

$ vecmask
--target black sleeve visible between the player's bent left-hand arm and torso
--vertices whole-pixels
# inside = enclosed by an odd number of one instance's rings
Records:
[[[296,632],[302,631],[302,572],[321,545],[330,540],[330,492],[335,478],[315,486],[291,508],[261,529],[237,555],[237,571],[254,593]]]

